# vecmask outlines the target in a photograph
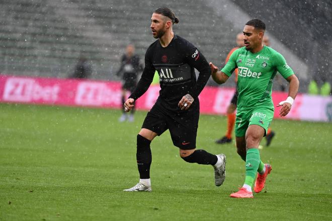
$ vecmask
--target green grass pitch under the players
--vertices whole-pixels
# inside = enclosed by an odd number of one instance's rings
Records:
[[[275,120],[261,158],[273,166],[254,199],[234,143],[217,145],[226,118],[201,116],[197,147],[227,156],[226,180],[179,157],[169,132],[151,144],[151,193],[138,181],[134,123],[112,109],[0,104],[0,220],[332,220],[331,124]],[[263,140],[262,144],[265,144]]]

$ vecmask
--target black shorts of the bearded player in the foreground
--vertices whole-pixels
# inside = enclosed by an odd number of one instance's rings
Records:
[[[158,136],[169,129],[174,146],[183,150],[195,149],[199,101],[195,102],[187,111],[176,113],[169,111],[157,101],[147,113],[142,128],[153,131]]]

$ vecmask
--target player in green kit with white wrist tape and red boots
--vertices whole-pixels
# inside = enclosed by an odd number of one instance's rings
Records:
[[[277,71],[289,82],[287,99],[277,105],[281,106],[280,116],[289,113],[299,87],[299,81],[284,57],[263,45],[264,32],[264,22],[258,19],[248,21],[243,29],[244,47],[233,52],[221,71],[210,63],[212,78],[218,84],[224,83],[238,68],[235,137],[237,153],[245,161],[245,180],[239,191],[230,194],[236,198],[254,197],[252,186],[257,172],[254,190],[261,192],[272,170],[271,165],[262,162],[258,147],[273,119],[271,93]]]

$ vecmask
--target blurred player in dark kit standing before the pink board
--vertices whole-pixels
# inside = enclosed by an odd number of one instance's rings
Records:
[[[121,57],[121,66],[117,72],[118,76],[122,75],[122,103],[124,103],[127,98],[127,91],[133,92],[134,88],[136,87],[138,72],[143,70],[143,67],[139,62],[139,57],[138,55],[134,54],[134,52],[134,45],[128,45],[126,48],[126,53]],[[124,122],[127,120],[127,114],[123,105],[121,105],[121,108],[122,115],[119,118],[119,121]],[[128,117],[129,122],[134,121],[134,113],[135,109],[133,108]]]

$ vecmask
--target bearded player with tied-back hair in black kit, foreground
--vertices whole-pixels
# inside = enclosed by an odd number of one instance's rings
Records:
[[[193,44],[173,33],[172,26],[177,23],[179,19],[168,8],[155,10],[151,17],[152,35],[158,40],[146,50],[141,79],[124,103],[126,111],[130,111],[134,101],[148,89],[155,70],[159,73],[161,89],[137,135],[139,182],[124,191],[152,190],[150,143],[166,130],[170,131],[173,144],[180,149],[182,159],[189,163],[212,165],[216,186],[220,186],[225,180],[225,155],[196,150],[198,95],[208,81],[211,69]],[[197,81],[194,68],[200,72]]]

